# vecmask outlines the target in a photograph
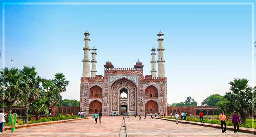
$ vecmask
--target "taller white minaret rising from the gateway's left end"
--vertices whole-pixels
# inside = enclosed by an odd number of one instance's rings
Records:
[[[83,59],[83,77],[89,77],[90,76],[90,47],[89,47],[89,41],[91,34],[86,30],[84,33],[84,59]]]

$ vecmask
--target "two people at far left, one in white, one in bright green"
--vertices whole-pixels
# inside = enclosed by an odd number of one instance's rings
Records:
[[[3,113],[3,110],[0,110],[0,134],[3,134],[3,127],[5,124],[5,118],[7,117],[7,113]],[[14,133],[14,129],[18,126],[17,121],[18,114],[15,111],[12,111],[12,114],[9,116],[9,125],[11,126],[11,133]]]

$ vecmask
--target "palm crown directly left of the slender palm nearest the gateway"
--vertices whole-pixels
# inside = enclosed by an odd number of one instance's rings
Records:
[[[47,101],[45,102],[47,107],[58,103],[58,95],[60,94],[59,88],[53,83],[52,80],[44,79],[42,81],[42,88],[44,90],[44,96]]]

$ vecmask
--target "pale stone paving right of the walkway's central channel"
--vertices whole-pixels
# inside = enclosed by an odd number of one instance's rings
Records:
[[[127,136],[128,137],[255,137],[253,134],[239,133],[234,134],[233,131],[222,133],[221,129],[212,127],[203,127],[190,124],[176,124],[172,121],[160,119],[144,119],[144,116],[139,120],[138,117],[125,119]]]

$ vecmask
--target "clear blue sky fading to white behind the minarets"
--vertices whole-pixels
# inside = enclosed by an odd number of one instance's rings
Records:
[[[79,100],[86,29],[90,47],[98,49],[98,75],[108,58],[115,68],[132,68],[139,58],[150,75],[150,49],[158,47],[161,29],[168,102],[192,96],[201,105],[209,95],[228,92],[234,78],[252,80],[251,7],[5,5],[5,66],[35,66],[48,79],[63,72],[70,81],[63,98]]]

